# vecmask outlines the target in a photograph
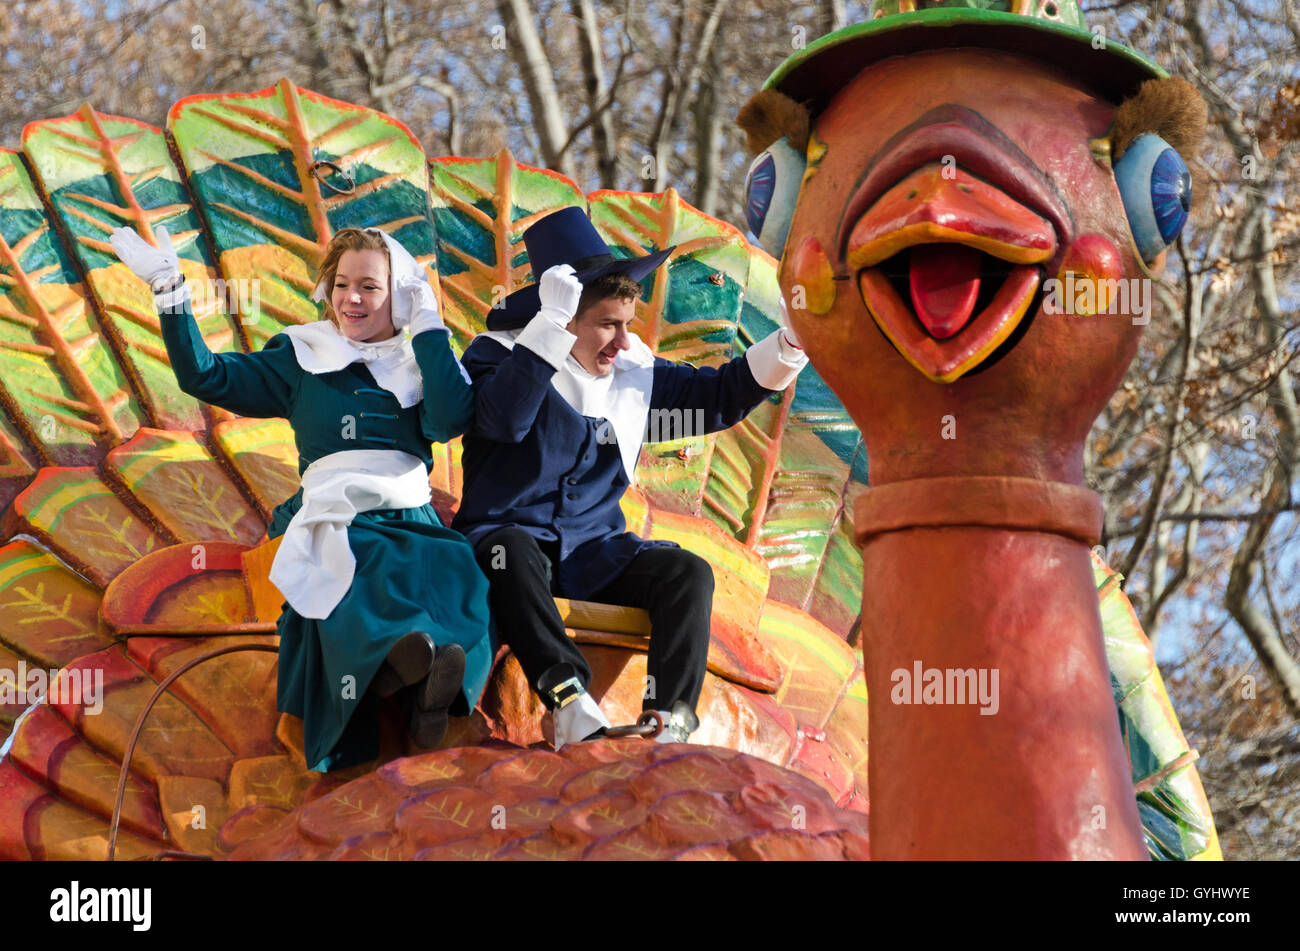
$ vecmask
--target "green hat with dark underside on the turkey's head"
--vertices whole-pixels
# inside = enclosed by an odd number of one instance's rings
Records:
[[[1119,103],[1167,74],[1089,30],[1076,0],[875,0],[872,18],[827,34],[790,56],[763,83],[815,116],[866,66],[927,49],[978,47],[1058,66]]]

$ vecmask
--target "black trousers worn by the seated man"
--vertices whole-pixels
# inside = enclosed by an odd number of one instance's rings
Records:
[[[510,644],[537,690],[537,679],[555,664],[569,663],[582,687],[592,668],[551,599],[556,543],[538,542],[519,527],[499,529],[474,546],[488,576],[488,600],[500,639]],[[708,620],[714,607],[714,569],[685,548],[647,548],[618,578],[592,595],[602,604],[645,608],[650,613],[650,656],[644,709],[672,709],[677,700],[696,708],[708,660]],[[545,699],[545,698],[543,698]]]

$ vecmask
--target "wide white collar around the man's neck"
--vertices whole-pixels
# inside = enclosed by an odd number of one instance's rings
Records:
[[[520,333],[523,331],[490,330],[478,336],[488,336],[506,349],[514,349]],[[650,413],[655,356],[636,334],[629,333],[628,339],[632,346],[615,357],[612,373],[603,377],[589,373],[569,353],[564,365],[551,377],[551,386],[580,416],[610,421],[619,443],[623,470],[628,474],[629,482],[636,482],[641,439]]]

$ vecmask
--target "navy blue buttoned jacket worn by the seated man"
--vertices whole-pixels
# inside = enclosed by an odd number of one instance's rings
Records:
[[[523,346],[486,336],[465,349],[474,425],[465,433],[465,490],[452,527],[477,544],[519,526],[559,543],[551,590],[590,598],[614,581],[647,542],[627,531],[619,500],[629,481],[612,427],[580,416],[551,386],[555,368]],[[718,369],[655,359],[650,409],[703,416],[707,433],[734,426],[774,391],[754,379],[744,356]],[[694,434],[694,433],[693,433]]]

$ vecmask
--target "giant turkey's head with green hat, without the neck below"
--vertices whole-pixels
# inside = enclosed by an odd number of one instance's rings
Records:
[[[742,109],[750,230],[872,485],[1080,485],[1187,220],[1204,103],[1071,3],[874,12]]]

